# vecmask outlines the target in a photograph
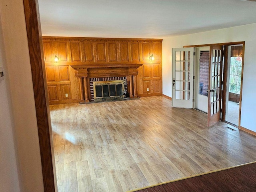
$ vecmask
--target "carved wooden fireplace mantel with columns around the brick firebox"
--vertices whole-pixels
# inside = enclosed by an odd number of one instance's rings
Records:
[[[128,90],[130,98],[136,98],[138,87],[138,68],[142,64],[85,64],[72,65],[75,70],[75,76],[79,78],[80,102],[90,102],[90,84],[89,78],[117,77],[125,76],[128,81]]]

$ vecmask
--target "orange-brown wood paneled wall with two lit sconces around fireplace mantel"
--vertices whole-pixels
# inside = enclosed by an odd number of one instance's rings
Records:
[[[73,67],[95,64],[142,64],[136,76],[138,96],[162,95],[162,39],[43,37],[43,46],[50,104],[78,102]]]

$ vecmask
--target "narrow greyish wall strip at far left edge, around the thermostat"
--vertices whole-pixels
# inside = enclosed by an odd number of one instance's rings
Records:
[[[4,68],[4,79],[0,80],[0,192],[19,192],[2,25],[0,25],[0,67]]]

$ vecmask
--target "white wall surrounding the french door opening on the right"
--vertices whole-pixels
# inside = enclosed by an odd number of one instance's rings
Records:
[[[172,48],[245,41],[241,126],[256,132],[256,24],[163,39],[163,94],[172,97]]]

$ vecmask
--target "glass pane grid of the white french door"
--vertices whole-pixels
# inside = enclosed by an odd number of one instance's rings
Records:
[[[190,51],[175,52],[175,99],[190,99]]]

